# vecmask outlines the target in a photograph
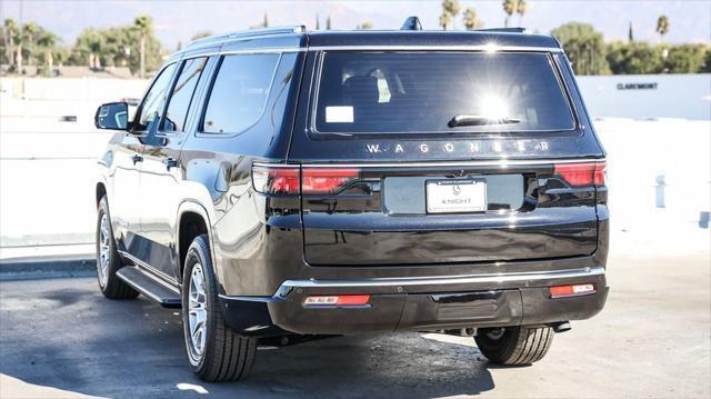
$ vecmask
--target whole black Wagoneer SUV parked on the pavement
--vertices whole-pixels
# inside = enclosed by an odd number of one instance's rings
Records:
[[[417,22],[417,21],[415,21]],[[472,336],[541,359],[608,295],[604,150],[559,42],[522,30],[252,30],[170,57],[99,160],[108,298],[182,308],[192,369],[260,340]]]

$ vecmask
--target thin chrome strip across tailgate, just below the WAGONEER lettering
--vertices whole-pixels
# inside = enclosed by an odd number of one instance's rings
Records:
[[[254,162],[258,167],[308,167],[308,168],[421,168],[421,167],[510,167],[529,164],[557,164],[557,163],[584,163],[604,162],[604,158],[578,158],[578,159],[498,159],[481,161],[434,161],[434,162],[360,162],[360,163],[269,163]]]

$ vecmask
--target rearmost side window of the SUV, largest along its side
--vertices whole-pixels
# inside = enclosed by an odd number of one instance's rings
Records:
[[[204,112],[206,133],[238,133],[259,120],[279,54],[227,56]]]

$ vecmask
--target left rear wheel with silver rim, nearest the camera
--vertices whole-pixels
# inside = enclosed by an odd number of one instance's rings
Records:
[[[257,339],[234,333],[224,323],[206,235],[188,249],[182,281],[182,325],[192,371],[209,382],[246,378],[254,363]]]

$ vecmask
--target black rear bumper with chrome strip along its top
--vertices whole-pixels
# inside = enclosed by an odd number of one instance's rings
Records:
[[[551,298],[552,286],[593,283],[595,292]],[[370,295],[364,307],[307,308],[309,296]],[[363,280],[288,280],[272,297],[221,296],[228,323],[243,333],[347,335],[430,331],[582,320],[604,306],[604,268],[547,272]],[[283,332],[282,331],[282,332]]]

